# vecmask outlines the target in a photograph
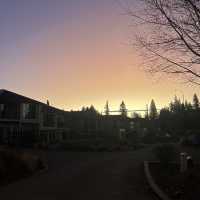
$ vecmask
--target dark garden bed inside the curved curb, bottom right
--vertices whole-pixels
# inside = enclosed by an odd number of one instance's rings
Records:
[[[174,200],[197,200],[200,196],[200,166],[195,165],[185,173],[180,173],[178,164],[163,167],[149,163],[150,173],[160,189]]]

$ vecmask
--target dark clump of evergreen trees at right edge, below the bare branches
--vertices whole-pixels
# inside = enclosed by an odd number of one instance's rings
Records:
[[[169,104],[169,108],[161,109],[158,123],[162,131],[174,136],[195,133],[200,129],[199,100],[197,95],[193,96],[193,103],[181,102],[176,96]],[[192,130],[192,132],[191,132]]]

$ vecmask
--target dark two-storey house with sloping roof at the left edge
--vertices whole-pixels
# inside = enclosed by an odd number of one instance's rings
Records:
[[[50,144],[68,134],[66,112],[31,98],[0,90],[0,143]]]

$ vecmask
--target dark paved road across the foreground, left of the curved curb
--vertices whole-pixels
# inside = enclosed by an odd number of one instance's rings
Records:
[[[48,152],[49,171],[0,189],[2,200],[153,200],[143,175],[148,150]]]

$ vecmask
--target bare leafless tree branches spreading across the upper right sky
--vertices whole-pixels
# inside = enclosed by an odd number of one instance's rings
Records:
[[[180,75],[200,85],[200,1],[140,0],[128,10],[135,22],[135,47],[150,72]]]

